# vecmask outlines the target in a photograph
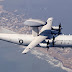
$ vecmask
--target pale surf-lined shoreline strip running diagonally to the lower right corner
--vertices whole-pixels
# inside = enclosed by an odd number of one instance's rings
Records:
[[[35,51],[36,51],[36,52],[35,52]],[[44,54],[44,53],[42,53],[42,52],[40,52],[40,51],[37,51],[36,49],[34,49],[33,51],[31,51],[31,54],[35,55],[38,59],[42,59],[42,60],[47,61],[48,63],[50,63],[50,64],[53,65],[54,67],[60,67],[60,68],[63,69],[63,70],[66,70],[66,71],[68,71],[68,72],[72,72],[72,69],[67,68],[66,66],[64,66],[63,63],[62,63],[62,61],[60,61],[60,60],[58,60],[58,59],[55,59],[54,57],[52,57],[52,56],[50,56],[50,55],[48,55],[48,54],[47,54],[48,56],[46,56],[46,54]],[[50,58],[50,60],[52,59],[53,61],[58,62],[58,64],[55,65],[52,61],[49,61],[48,59],[43,58],[43,57],[45,57],[45,56],[48,57],[48,58]]]

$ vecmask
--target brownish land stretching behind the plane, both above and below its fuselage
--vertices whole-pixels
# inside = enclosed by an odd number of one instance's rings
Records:
[[[31,28],[24,26],[26,20],[24,14],[18,14],[17,11],[8,12],[0,6],[0,27],[9,29],[16,33],[31,34]],[[48,53],[50,56],[61,61],[63,66],[72,69],[72,49],[71,48],[50,48],[48,51],[39,48],[40,51]]]

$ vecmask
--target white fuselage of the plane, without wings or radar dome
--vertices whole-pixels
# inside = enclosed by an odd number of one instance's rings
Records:
[[[17,43],[20,45],[29,45],[34,38],[35,37],[33,37],[33,35],[0,33],[1,40]],[[52,40],[53,39],[49,40],[50,47],[53,47]],[[47,41],[48,39],[46,39],[44,43],[40,43],[38,46],[47,47]],[[55,37],[54,47],[72,47],[72,35],[59,35]]]

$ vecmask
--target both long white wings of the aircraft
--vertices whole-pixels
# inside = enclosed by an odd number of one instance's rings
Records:
[[[27,47],[26,49],[22,52],[23,54],[26,54],[27,52],[29,52],[32,48],[34,48],[35,46],[37,46],[40,42],[42,42],[43,40],[45,40],[48,36],[44,36],[43,32],[45,30],[51,30],[51,27],[52,27],[52,21],[53,21],[53,18],[49,18],[47,20],[47,24],[45,26],[42,27],[41,29],[41,32],[39,36],[37,36]],[[43,34],[42,34],[43,33]],[[49,32],[50,34],[50,32]]]

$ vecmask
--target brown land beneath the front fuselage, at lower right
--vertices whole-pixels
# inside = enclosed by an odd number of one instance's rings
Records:
[[[62,62],[63,66],[72,69],[72,49],[71,48],[55,48],[51,47],[48,51],[45,48],[38,48],[43,53],[49,54],[54,59]]]

